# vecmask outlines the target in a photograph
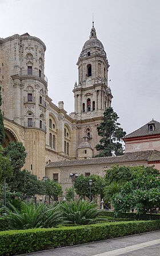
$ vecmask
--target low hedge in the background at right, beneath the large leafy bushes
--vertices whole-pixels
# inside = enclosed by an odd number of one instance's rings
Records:
[[[105,217],[114,217],[114,211],[102,211],[101,213],[102,216]],[[156,220],[160,219],[160,214],[137,214],[137,213],[118,213],[118,218],[123,218],[123,219],[130,219],[130,221],[135,221],[135,220],[143,220],[143,221],[149,221],[150,219]]]

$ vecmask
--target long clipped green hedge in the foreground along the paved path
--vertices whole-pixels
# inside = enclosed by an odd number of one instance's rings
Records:
[[[160,221],[113,222],[53,229],[0,232],[0,255],[31,253],[160,229]]]

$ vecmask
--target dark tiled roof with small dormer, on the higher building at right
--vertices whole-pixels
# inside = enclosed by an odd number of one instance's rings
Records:
[[[154,126],[153,131],[149,131],[149,125]],[[142,137],[142,136],[156,135],[156,134],[160,135],[160,123],[155,120],[151,120],[149,123],[146,123],[146,125],[143,125],[138,130],[133,131],[133,133],[127,134],[123,139],[125,141],[126,138],[135,138],[135,137]]]

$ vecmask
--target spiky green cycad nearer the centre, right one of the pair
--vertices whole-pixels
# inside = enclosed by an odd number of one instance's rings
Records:
[[[62,210],[63,223],[72,225],[88,225],[98,221],[101,210],[98,210],[97,205],[86,201],[71,201],[65,202],[60,206]]]

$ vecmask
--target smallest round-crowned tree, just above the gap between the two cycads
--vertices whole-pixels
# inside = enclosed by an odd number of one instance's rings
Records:
[[[58,182],[54,182],[51,179],[48,179],[45,182],[46,195],[49,195],[49,203],[50,199],[54,201],[54,197],[58,197],[62,195],[62,185]]]

